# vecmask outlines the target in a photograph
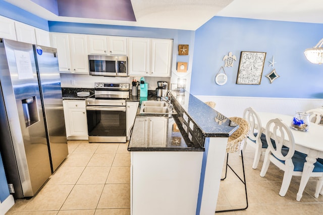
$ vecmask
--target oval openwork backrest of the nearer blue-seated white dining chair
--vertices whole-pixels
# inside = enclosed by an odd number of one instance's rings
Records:
[[[281,119],[272,119],[266,124],[265,134],[268,150],[270,150],[276,158],[282,161],[291,160],[295,152],[295,141],[289,126]],[[276,148],[273,146],[273,140],[275,141]],[[289,148],[287,154],[282,153],[283,146]]]

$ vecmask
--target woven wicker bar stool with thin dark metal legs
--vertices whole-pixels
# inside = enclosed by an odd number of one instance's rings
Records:
[[[238,208],[238,209],[216,210],[216,212],[245,210],[248,208],[247,186],[246,186],[246,177],[245,177],[245,172],[244,172],[242,148],[243,148],[246,138],[249,135],[250,126],[249,126],[249,123],[241,117],[229,117],[229,119],[231,120],[231,123],[238,124],[239,128],[228,138],[226,172],[225,172],[225,177],[222,178],[221,180],[226,179],[227,170],[229,167],[233,171],[233,173],[240,179],[240,181],[244,184],[245,194],[246,194],[246,206],[244,208]],[[228,164],[229,153],[236,153],[236,152],[241,152],[243,179]]]

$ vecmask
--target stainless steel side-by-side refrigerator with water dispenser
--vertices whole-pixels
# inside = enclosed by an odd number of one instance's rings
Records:
[[[7,181],[31,197],[68,154],[56,49],[0,39],[0,83]]]

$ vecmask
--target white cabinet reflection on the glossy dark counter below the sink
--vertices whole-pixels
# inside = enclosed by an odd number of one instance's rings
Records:
[[[136,125],[142,133],[136,134],[136,142],[142,142],[142,147],[163,147],[167,144],[167,117],[137,117]],[[138,146],[136,144],[136,146]],[[139,147],[139,146],[138,146]]]

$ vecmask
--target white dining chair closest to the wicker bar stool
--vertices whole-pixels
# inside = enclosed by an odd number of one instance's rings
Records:
[[[252,107],[248,107],[243,111],[243,118],[250,125],[250,133],[246,144],[243,146],[242,152],[245,151],[247,144],[255,149],[252,169],[257,169],[260,156],[262,152],[265,152],[268,146],[266,136],[263,132],[260,118]]]

